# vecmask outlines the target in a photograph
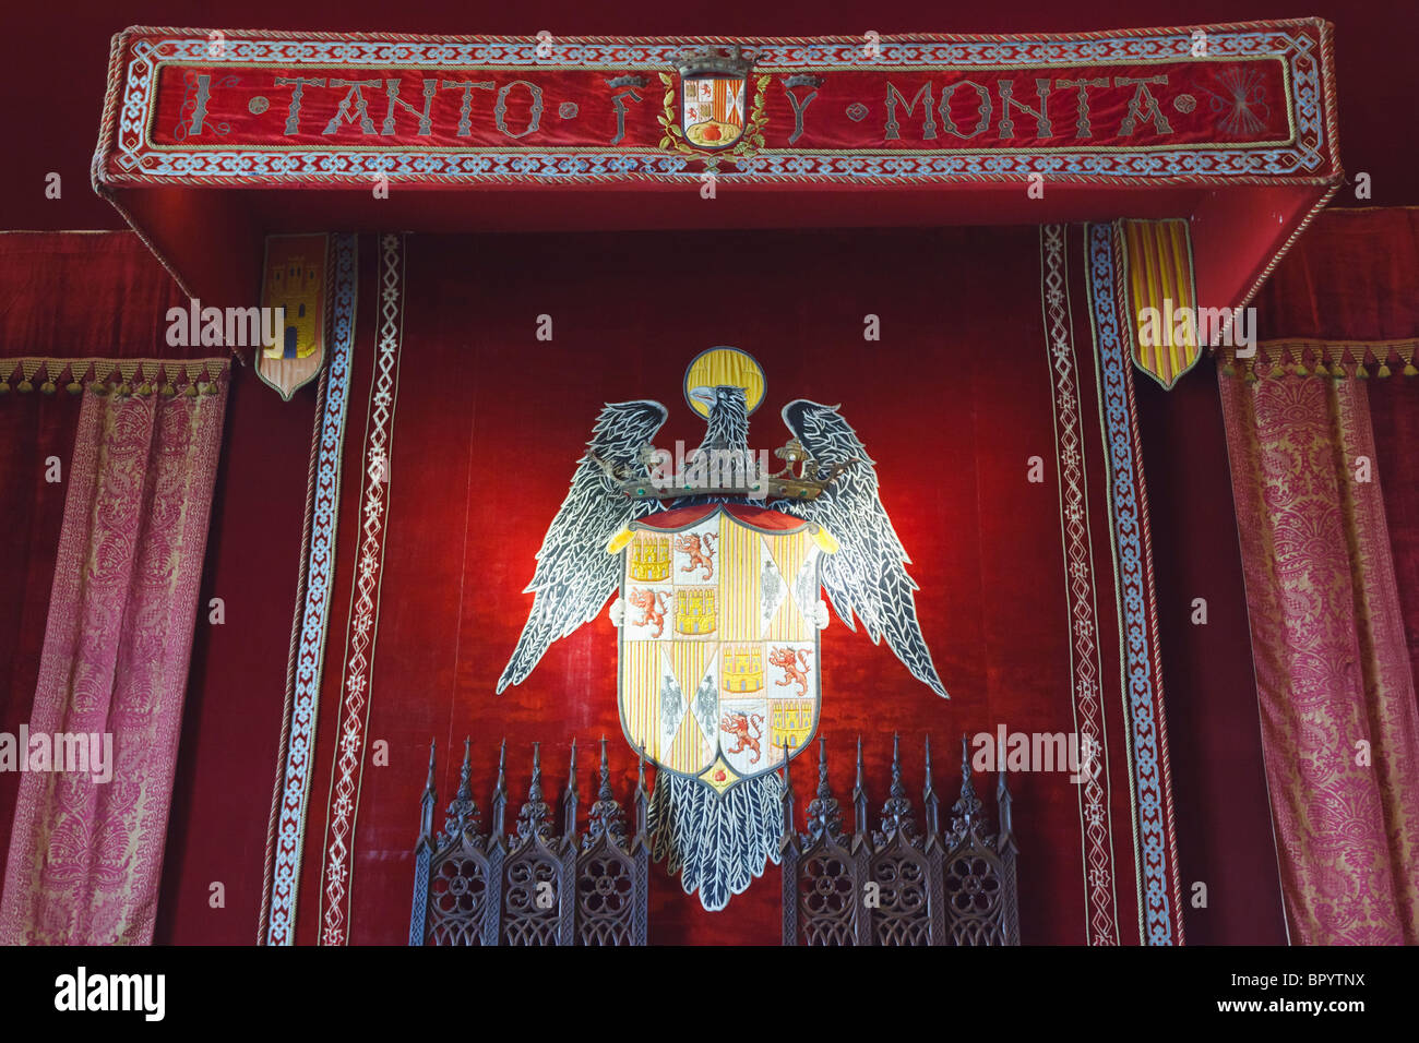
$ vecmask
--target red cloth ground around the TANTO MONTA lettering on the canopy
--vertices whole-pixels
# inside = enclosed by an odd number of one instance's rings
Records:
[[[145,38],[146,43],[146,38]],[[244,67],[241,64],[220,65],[167,65],[160,74],[159,98],[153,122],[149,128],[146,148],[177,148],[177,149],[236,149],[244,145],[261,145],[275,149],[295,148],[417,148],[417,149],[473,149],[473,148],[551,148],[551,146],[607,146],[616,135],[616,111],[612,96],[617,89],[606,85],[606,79],[622,72],[641,72],[648,78],[648,85],[639,88],[641,101],[626,102],[626,133],[617,148],[654,148],[663,136],[663,129],[657,122],[664,112],[663,87],[658,79],[660,68],[644,65],[626,65],[613,71],[579,71],[579,70],[551,70],[528,67],[484,67],[484,68],[369,68],[350,71],[349,68],[324,67],[295,67],[261,68]],[[812,70],[810,70],[812,71]],[[1130,65],[1125,62],[1110,65],[1094,65],[1086,70],[1090,79],[1147,79],[1158,75],[1156,65]],[[1257,115],[1264,121],[1257,129],[1242,133],[1240,128],[1229,131],[1220,123],[1230,111],[1229,108],[1215,109],[1213,96],[1225,96],[1223,87],[1227,74],[1254,77],[1254,89],[1264,92],[1270,99],[1269,108],[1257,109]],[[197,81],[196,77],[210,77],[210,94],[207,99],[207,122],[201,133],[193,135],[192,118],[196,105]],[[1105,88],[1090,88],[1088,121],[1093,126],[1093,136],[1081,139],[1077,133],[1080,115],[1077,88],[1063,88],[1057,81],[1078,79],[1078,67],[1043,64],[1036,68],[1015,70],[938,70],[932,71],[893,71],[876,70],[843,71],[832,70],[826,74],[826,82],[819,88],[815,98],[803,114],[803,133],[795,142],[789,142],[796,122],[793,106],[783,88],[786,74],[776,74],[775,82],[765,94],[763,114],[766,116],[768,148],[782,149],[1029,149],[1029,148],[1064,148],[1073,145],[1097,148],[1152,148],[1159,145],[1181,146],[1198,142],[1277,142],[1291,136],[1286,98],[1284,62],[1280,60],[1267,61],[1232,61],[1186,65],[1174,64],[1168,67],[1169,82],[1166,85],[1149,84],[1148,92],[1156,99],[1164,119],[1168,121],[1171,133],[1158,133],[1152,119],[1139,119],[1135,132],[1121,135],[1121,126],[1128,116],[1130,104],[1138,89],[1135,84],[1110,85]],[[305,85],[301,91],[301,106],[298,112],[298,133],[285,133],[287,118],[289,115],[291,95],[294,88],[289,84],[277,84],[281,79],[324,79],[326,84],[333,79],[349,82],[379,81],[375,87],[360,87],[359,96],[363,98],[369,119],[373,121],[375,135],[366,135],[360,129],[359,114],[352,101],[349,109],[339,115],[339,122],[332,133],[325,133],[325,128],[339,112],[341,104],[350,95],[349,87]],[[461,88],[443,88],[434,95],[430,106],[431,128],[429,135],[419,135],[419,112],[423,112],[423,81],[477,81],[491,82],[491,89],[473,89],[470,92],[471,112],[468,136],[458,136],[458,119],[464,99]],[[234,79],[236,82],[227,82]],[[389,95],[385,91],[386,79],[397,79],[400,85],[399,98],[414,106],[410,112],[402,105],[394,106],[396,133],[385,138],[383,122],[389,112]],[[1000,99],[999,81],[1009,79],[1013,87],[1013,98],[1022,105],[1039,109],[1040,101],[1034,89],[1036,79],[1056,81],[1054,89],[1047,92],[1044,111],[1050,116],[1054,133],[1040,138],[1034,116],[1012,106],[1015,121],[1015,135],[1005,136],[1000,132],[1003,118],[1003,104]],[[501,95],[508,84],[522,81],[541,88],[542,112],[538,128],[524,135],[532,123],[532,91],[525,85],[515,87]],[[941,92],[952,84],[979,84],[989,98],[990,111],[981,108],[981,95],[971,87],[958,88],[951,99],[949,112],[954,122],[966,132],[975,131],[981,118],[988,119],[988,128],[979,135],[971,136],[946,133],[941,114],[935,105],[941,99]],[[925,84],[932,84],[932,121],[937,123],[937,136],[925,139],[922,123],[925,121],[920,104],[912,112],[908,106],[917,92]],[[897,121],[901,125],[900,139],[894,142],[883,140],[883,128],[887,122],[887,85],[893,84],[904,101],[895,108]],[[752,115],[756,89],[756,78],[751,79],[745,99],[745,116]],[[1009,89],[1009,88],[1007,88]],[[807,96],[812,88],[799,89],[799,99]],[[1172,105],[1174,98],[1189,94],[1198,102],[1191,112],[1182,112]],[[505,125],[511,133],[504,133],[494,123],[494,105],[502,96],[505,102]],[[248,102],[255,98],[265,98],[268,106],[253,115]],[[580,106],[578,116],[566,119],[558,114],[563,102],[575,102]],[[868,109],[867,118],[853,122],[844,115],[844,109],[853,104],[864,104]],[[671,102],[675,119],[680,119],[678,82],[677,94]],[[217,132],[219,126],[228,128],[228,133]],[[511,135],[518,135],[517,138]],[[114,165],[115,173],[126,173],[122,165]]]

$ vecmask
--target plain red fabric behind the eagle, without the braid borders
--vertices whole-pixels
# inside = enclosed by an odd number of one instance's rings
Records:
[[[885,647],[834,623],[823,641],[822,731],[839,798],[850,795],[858,734],[876,822],[894,731],[904,738],[914,800],[921,738],[934,736],[935,783],[949,802],[959,786],[962,732],[993,732],[998,724],[1012,731],[1073,727],[1059,491],[1049,465],[1044,484],[1025,480],[1030,456],[1054,458],[1037,230],[710,234],[692,241],[670,234],[473,243],[412,237],[409,244],[368,731],[369,741],[389,742],[390,765],[366,766],[363,775],[352,942],[399,942],[407,931],[410,849],[430,738],[438,745],[440,806],[451,798],[465,734],[474,736],[484,810],[504,736],[512,810],[525,793],[534,741],[543,742],[545,779],[559,793],[570,739],[579,739],[585,796],[590,746],[607,735],[619,793],[629,798],[634,762],[620,736],[613,630],[604,616],[553,646],[524,685],[501,697],[492,687],[526,616],[531,599],[519,590],[532,555],[600,403],[660,397],[671,407],[671,423],[658,441],[698,441],[702,423],[683,406],[680,382],[690,359],[715,343],[749,351],[765,366],[769,392],[753,417],[752,446],[782,443],[786,429],[776,413],[790,397],[843,403],[878,461],[885,504],[917,562],[922,627],[954,697],[938,700]],[[868,312],[883,319],[880,343],[861,341]],[[551,343],[534,339],[541,314],[553,316]],[[1077,321],[1087,331],[1087,315]],[[647,338],[647,329],[658,332]],[[346,468],[360,453],[370,365],[368,348],[356,353]],[[1081,383],[1086,440],[1097,464],[1091,376]],[[333,700],[353,559],[349,519],[358,509],[349,474],[341,511],[345,572],[335,592],[301,885],[302,942],[318,932]],[[1103,480],[1103,468],[1093,467],[1098,502]],[[1101,524],[1095,536],[1107,673],[1117,670],[1118,630]],[[1115,771],[1117,915],[1124,939],[1137,941],[1117,677],[1104,702]],[[797,763],[796,785],[800,795],[812,788],[806,763]],[[1025,937],[1081,941],[1074,786],[1064,775],[1032,775],[1016,776],[1013,788],[1025,850]],[[778,938],[776,874],[721,914],[705,914],[660,867],[653,881],[653,941]]]

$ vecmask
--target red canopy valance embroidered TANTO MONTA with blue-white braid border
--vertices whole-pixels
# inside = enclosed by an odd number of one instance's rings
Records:
[[[1321,21],[1051,37],[131,28],[101,183],[1325,182]]]

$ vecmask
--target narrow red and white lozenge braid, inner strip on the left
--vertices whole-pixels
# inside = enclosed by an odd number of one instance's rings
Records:
[[[382,236],[379,255],[379,348],[365,421],[365,491],[359,512],[362,535],[345,634],[339,756],[331,765],[331,796],[325,812],[321,945],[349,942],[355,819],[359,813],[369,707],[373,701],[379,592],[385,575],[385,536],[389,531],[389,461],[394,447],[394,403],[399,399],[399,355],[404,333],[403,237]]]

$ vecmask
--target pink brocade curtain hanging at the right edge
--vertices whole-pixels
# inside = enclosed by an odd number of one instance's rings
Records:
[[[1291,942],[1416,944],[1419,708],[1365,382],[1220,386]]]

